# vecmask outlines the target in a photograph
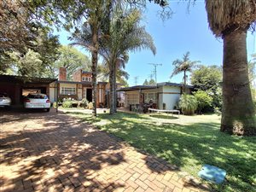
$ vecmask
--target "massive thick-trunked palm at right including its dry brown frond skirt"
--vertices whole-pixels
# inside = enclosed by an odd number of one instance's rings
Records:
[[[206,0],[209,26],[224,39],[221,131],[256,136],[247,65],[247,31],[256,24],[255,0]]]

